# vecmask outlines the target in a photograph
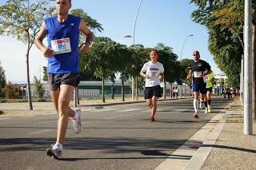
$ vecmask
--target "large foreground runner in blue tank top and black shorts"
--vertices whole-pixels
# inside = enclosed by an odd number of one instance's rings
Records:
[[[80,81],[78,50],[88,51],[93,41],[93,34],[86,23],[69,14],[71,0],[56,0],[57,16],[46,18],[35,40],[35,44],[47,57],[47,74],[51,98],[58,112],[58,133],[56,143],[47,149],[47,155],[60,159],[62,144],[66,135],[68,118],[73,121],[74,132],[82,130],[81,110],[70,109],[70,100],[74,88]],[[86,41],[78,49],[79,32],[86,36]],[[42,40],[46,38],[48,45]]]

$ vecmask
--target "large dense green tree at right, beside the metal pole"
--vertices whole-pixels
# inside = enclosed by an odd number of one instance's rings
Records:
[[[243,1],[191,0],[190,2],[198,6],[198,10],[192,13],[194,22],[206,26],[209,31],[208,48],[218,68],[226,73],[231,85],[239,86],[238,68],[241,67],[243,54]]]

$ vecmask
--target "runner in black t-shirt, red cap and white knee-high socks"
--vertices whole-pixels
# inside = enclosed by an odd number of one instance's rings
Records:
[[[192,77],[192,91],[194,95],[194,118],[198,119],[198,93],[200,92],[200,98],[205,100],[206,95],[206,82],[204,76],[211,73],[210,65],[208,62],[200,60],[199,51],[193,52],[194,61],[189,65],[189,73],[187,78]]]

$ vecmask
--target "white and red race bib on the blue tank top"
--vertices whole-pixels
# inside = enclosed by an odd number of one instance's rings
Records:
[[[54,49],[54,54],[69,53],[71,51],[70,38],[52,40],[50,44],[51,48]]]

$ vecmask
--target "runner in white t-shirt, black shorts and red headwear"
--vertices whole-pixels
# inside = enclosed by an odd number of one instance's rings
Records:
[[[154,121],[154,115],[157,110],[158,97],[162,97],[162,89],[160,81],[162,81],[164,68],[162,63],[158,62],[158,53],[155,51],[150,52],[150,61],[146,62],[140,74],[146,78],[145,85],[145,99],[147,105],[150,106],[151,116],[150,121]]]

